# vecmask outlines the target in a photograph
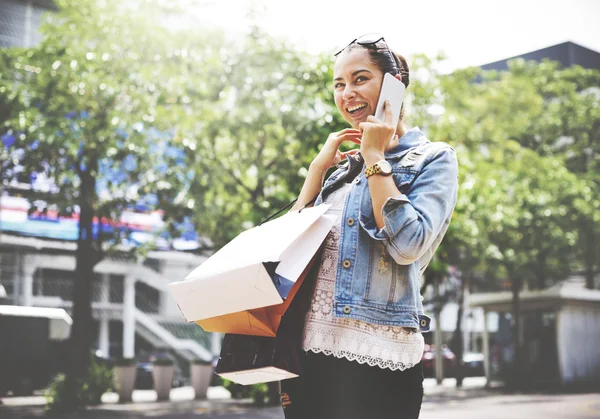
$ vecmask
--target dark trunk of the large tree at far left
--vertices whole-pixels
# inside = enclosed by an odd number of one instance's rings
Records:
[[[97,258],[93,246],[92,222],[96,203],[97,160],[86,162],[87,167],[80,171],[81,187],[79,195],[79,237],[75,261],[73,284],[73,326],[69,339],[71,351],[66,374],[65,408],[76,409],[81,405],[78,383],[86,379],[90,365],[90,350],[93,341],[92,324],[92,280]]]

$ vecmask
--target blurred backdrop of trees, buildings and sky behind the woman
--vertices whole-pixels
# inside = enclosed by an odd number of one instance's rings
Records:
[[[166,289],[294,199],[346,127],[332,53],[380,32],[406,122],[457,151],[425,374],[600,382],[600,5],[0,0],[0,396],[221,336]],[[150,367],[149,367],[150,365]],[[75,378],[73,378],[75,379]],[[151,383],[151,380],[150,380]],[[138,383],[140,388],[151,384]]]

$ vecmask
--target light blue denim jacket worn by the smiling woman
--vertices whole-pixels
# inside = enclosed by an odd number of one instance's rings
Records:
[[[375,223],[364,168],[346,198],[333,314],[336,317],[429,331],[419,278],[450,224],[458,191],[458,163],[446,143],[430,142],[418,128],[385,153],[401,194],[383,206]],[[324,187],[342,175],[336,170]],[[315,205],[323,203],[322,194]]]

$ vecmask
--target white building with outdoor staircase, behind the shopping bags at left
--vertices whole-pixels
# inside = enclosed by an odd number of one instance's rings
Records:
[[[7,211],[0,212],[6,215]],[[73,242],[2,231],[3,303],[72,309]],[[145,262],[122,256],[100,262],[92,280],[96,345],[104,357],[170,351],[182,360],[211,359],[219,342],[183,319],[166,286],[184,278],[207,256],[156,251]],[[216,336],[216,335],[215,335]]]

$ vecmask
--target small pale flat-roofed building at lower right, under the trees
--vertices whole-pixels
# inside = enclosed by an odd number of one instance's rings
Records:
[[[482,308],[485,315],[511,316],[511,292],[473,294],[470,307]],[[484,322],[484,324],[486,324]],[[519,346],[523,348],[523,368],[534,384],[571,385],[600,382],[600,290],[585,288],[585,279],[572,277],[545,290],[523,291],[520,295]],[[485,329],[487,336],[487,328]],[[512,336],[504,334],[492,341],[484,339],[485,370],[493,378],[494,362],[510,364]],[[493,349],[493,351],[491,350]]]

